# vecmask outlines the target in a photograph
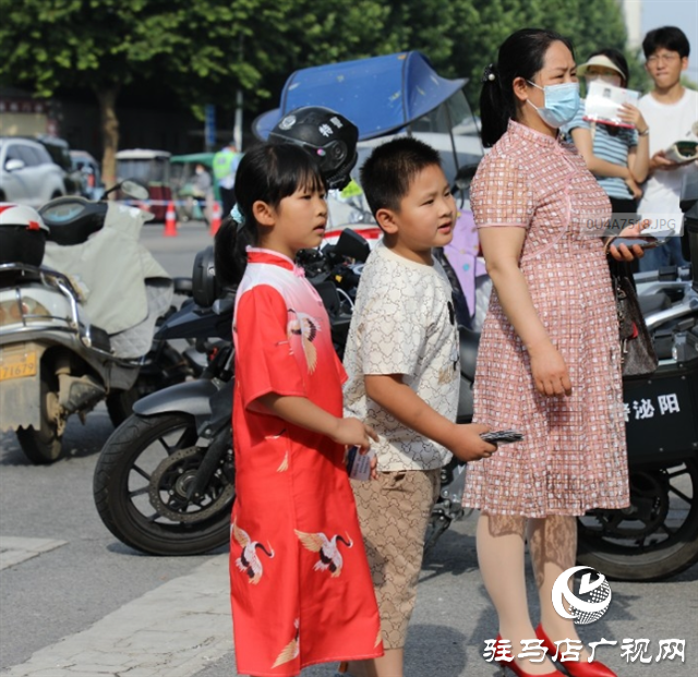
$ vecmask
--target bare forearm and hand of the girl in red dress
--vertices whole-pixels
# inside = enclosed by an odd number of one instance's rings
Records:
[[[378,439],[373,428],[359,421],[359,419],[338,419],[333,416],[305,397],[267,392],[255,401],[264,404],[279,419],[313,433],[326,435],[340,445],[356,445],[362,449],[368,449],[371,446],[371,439],[376,442]]]

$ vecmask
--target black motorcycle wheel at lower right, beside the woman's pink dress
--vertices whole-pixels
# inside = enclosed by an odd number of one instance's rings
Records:
[[[577,560],[618,581],[659,581],[698,561],[698,462],[630,469],[630,508],[577,519]]]

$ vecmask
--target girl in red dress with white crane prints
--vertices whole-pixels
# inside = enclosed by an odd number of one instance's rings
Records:
[[[293,676],[383,654],[378,610],[344,463],[375,433],[342,419],[346,378],[322,300],[293,264],[327,221],[315,159],[249,152],[216,268],[238,282],[233,340],[237,498],[230,587],[239,674]],[[245,256],[245,245],[246,256]]]

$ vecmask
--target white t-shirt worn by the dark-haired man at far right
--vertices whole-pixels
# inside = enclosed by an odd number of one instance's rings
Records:
[[[660,104],[651,94],[646,94],[638,108],[650,126],[650,157],[682,138],[696,138],[690,128],[698,121],[698,92],[684,89],[682,99],[671,105]],[[681,185],[690,171],[697,171],[694,162],[671,171],[653,172],[643,186],[640,214],[681,213]]]

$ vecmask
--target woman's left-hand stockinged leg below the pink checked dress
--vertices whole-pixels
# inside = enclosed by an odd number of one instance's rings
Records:
[[[522,640],[535,639],[526,596],[525,533],[524,517],[481,515],[478,520],[480,572],[500,618],[500,634],[512,642],[514,656],[522,650]],[[549,675],[554,669],[547,660],[516,663],[530,675]]]

